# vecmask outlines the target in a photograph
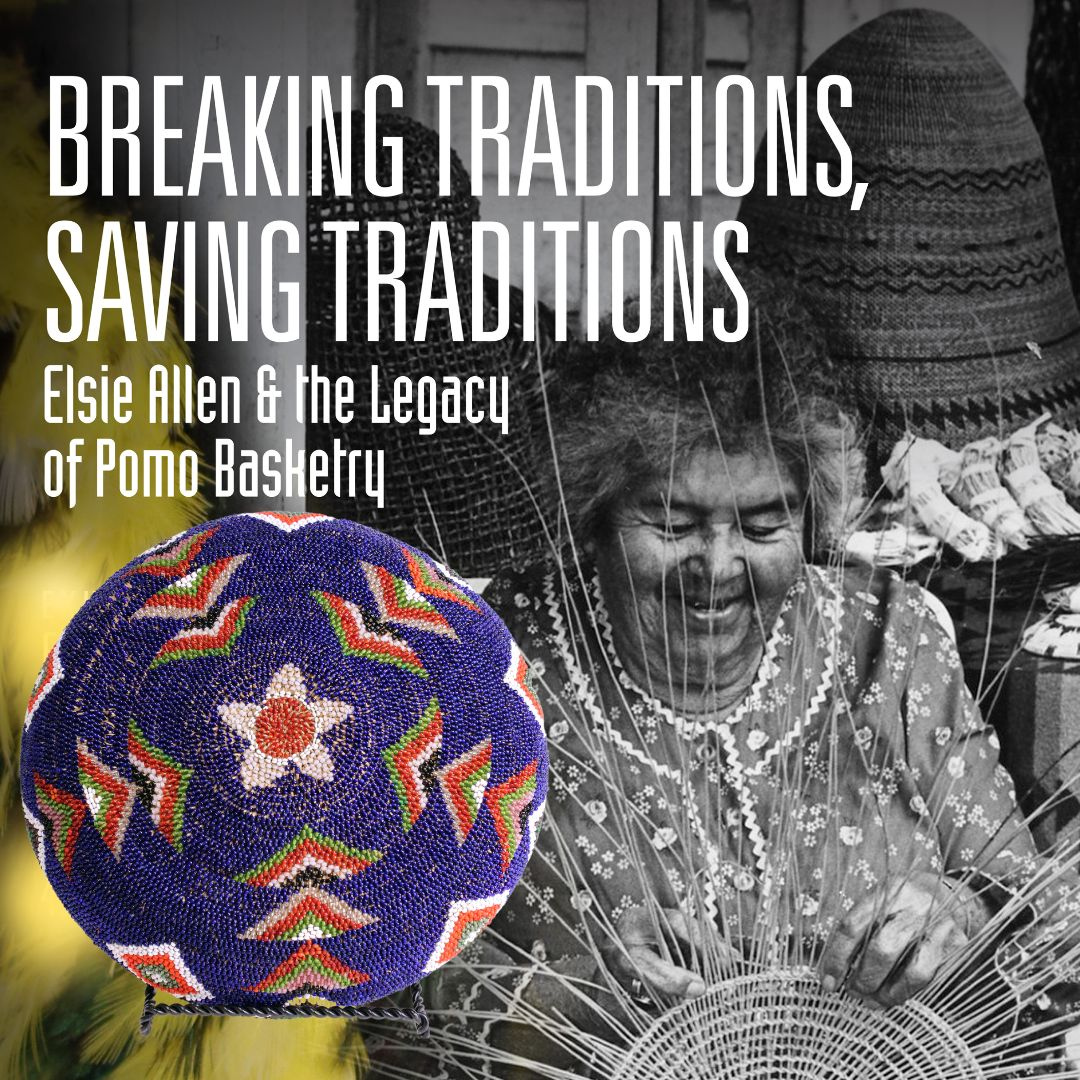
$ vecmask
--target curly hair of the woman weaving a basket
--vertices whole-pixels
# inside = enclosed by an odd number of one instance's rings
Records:
[[[663,339],[657,289],[644,340],[621,341],[607,324],[598,341],[571,354],[553,424],[559,489],[578,542],[600,539],[612,508],[644,481],[710,447],[774,456],[787,470],[808,503],[808,555],[843,531],[862,494],[863,458],[837,404],[833,366],[788,292],[757,271],[742,271],[740,282],[751,302],[740,341],[712,333],[712,309],[730,309],[733,298],[720,279],[706,279],[703,340]],[[625,324],[637,325],[636,311]]]

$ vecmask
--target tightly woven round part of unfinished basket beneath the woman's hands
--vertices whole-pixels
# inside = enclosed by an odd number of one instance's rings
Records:
[[[745,975],[659,1016],[616,1080],[983,1080],[933,1010],[888,1012],[826,994],[812,975]]]

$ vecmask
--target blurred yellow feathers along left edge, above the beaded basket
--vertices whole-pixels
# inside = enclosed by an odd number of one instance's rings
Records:
[[[0,382],[0,610],[5,616],[0,627],[0,798],[11,786],[17,732],[38,669],[64,626],[109,573],[206,512],[200,496],[124,498],[106,488],[98,497],[90,453],[76,475],[73,508],[43,494],[46,450],[64,450],[72,437],[85,438],[87,447],[97,438],[112,438],[118,454],[193,446],[186,433],[168,423],[151,424],[148,417],[150,367],[183,370],[190,365],[172,315],[161,342],[126,341],[114,310],[103,319],[99,341],[60,343],[45,332],[45,308],[63,300],[44,255],[49,225],[68,217],[84,230],[83,254],[65,260],[84,296],[93,294],[104,228],[102,217],[49,197],[48,147],[39,133],[45,113],[23,66],[0,59],[0,312],[8,312],[15,325],[14,351]],[[129,279],[136,288],[130,222],[123,225],[123,239]],[[156,262],[151,275],[157,288]],[[132,421],[46,423],[43,374],[49,364],[70,364],[76,376],[97,376],[104,364],[113,377],[130,376]]]

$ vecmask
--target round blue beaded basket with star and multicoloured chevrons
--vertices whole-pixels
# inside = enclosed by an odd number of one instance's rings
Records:
[[[319,514],[221,518],[113,575],[45,660],[22,751],[64,905],[207,1009],[415,984],[505,901],[546,781],[499,618]]]

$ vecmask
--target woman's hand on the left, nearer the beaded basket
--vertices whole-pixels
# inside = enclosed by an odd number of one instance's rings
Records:
[[[707,949],[719,962],[730,954],[711,923],[689,919],[675,907],[632,907],[616,924],[617,944],[605,950],[608,969],[634,998],[697,998],[705,982],[684,957]]]

